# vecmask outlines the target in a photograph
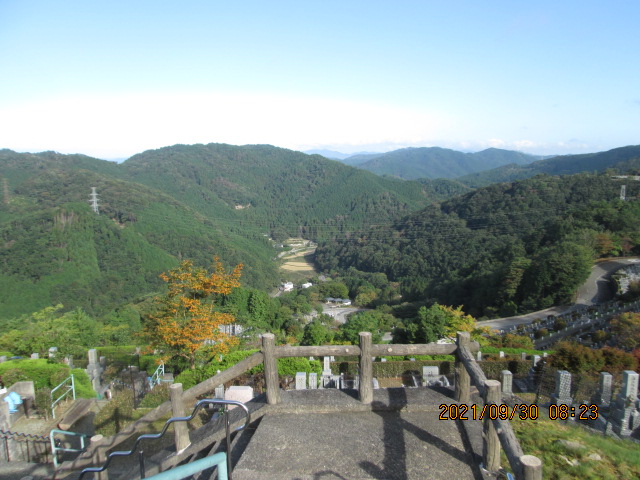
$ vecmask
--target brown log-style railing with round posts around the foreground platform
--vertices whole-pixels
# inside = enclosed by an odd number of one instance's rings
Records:
[[[479,345],[471,342],[468,332],[459,332],[456,344],[412,344],[412,345],[372,345],[371,333],[361,332],[359,345],[323,345],[292,347],[275,345],[275,336],[266,333],[262,336],[262,351],[238,362],[233,367],[218,373],[204,382],[186,390],[182,400],[185,403],[195,401],[198,397],[212,392],[218,385],[227,383],[242,375],[253,367],[264,364],[264,376],[267,403],[280,403],[280,382],[278,379],[278,358],[284,357],[320,357],[320,356],[356,356],[359,357],[359,390],[362,403],[373,401],[373,357],[406,356],[406,355],[456,355],[455,399],[460,403],[470,403],[471,380],[477,386],[485,404],[499,405],[500,382],[487,380],[480,366],[473,358]],[[104,439],[101,448],[107,450],[129,439],[145,425],[166,416],[171,412],[171,402],[167,401],[155,408],[138,421],[110,439]],[[489,415],[486,416],[487,418]],[[542,478],[542,462],[534,456],[524,455],[522,448],[513,433],[508,420],[485,419],[483,434],[483,463],[487,470],[497,471],[500,468],[500,447],[504,449],[509,464],[516,478],[538,480]],[[92,463],[96,446],[89,446],[87,452],[66,469],[83,468]]]

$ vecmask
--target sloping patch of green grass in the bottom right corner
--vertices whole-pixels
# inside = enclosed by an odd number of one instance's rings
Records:
[[[511,421],[522,450],[542,460],[543,478],[640,478],[640,444],[605,437],[573,421],[549,420],[543,411],[546,409],[540,409],[538,420],[515,418]],[[562,440],[577,442],[580,446],[572,448]],[[589,458],[592,454],[599,455],[600,460]],[[502,464],[508,465],[504,453]]]

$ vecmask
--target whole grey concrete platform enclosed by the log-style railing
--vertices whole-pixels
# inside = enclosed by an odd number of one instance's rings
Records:
[[[432,389],[283,392],[233,470],[234,480],[481,479],[479,425],[439,420]],[[473,422],[475,423],[475,422]],[[473,437],[473,438],[470,438]]]

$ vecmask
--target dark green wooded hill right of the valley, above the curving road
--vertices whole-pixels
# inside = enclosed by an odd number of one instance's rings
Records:
[[[569,302],[598,256],[640,253],[640,182],[605,175],[538,176],[482,188],[325,242],[327,270],[385,273],[403,299],[513,315]]]

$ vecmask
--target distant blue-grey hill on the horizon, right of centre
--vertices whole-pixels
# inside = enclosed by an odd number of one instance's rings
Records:
[[[528,164],[541,157],[521,152],[488,148],[464,153],[439,147],[403,148],[388,153],[352,156],[345,163],[357,165],[377,175],[406,180],[456,178],[508,164]]]

